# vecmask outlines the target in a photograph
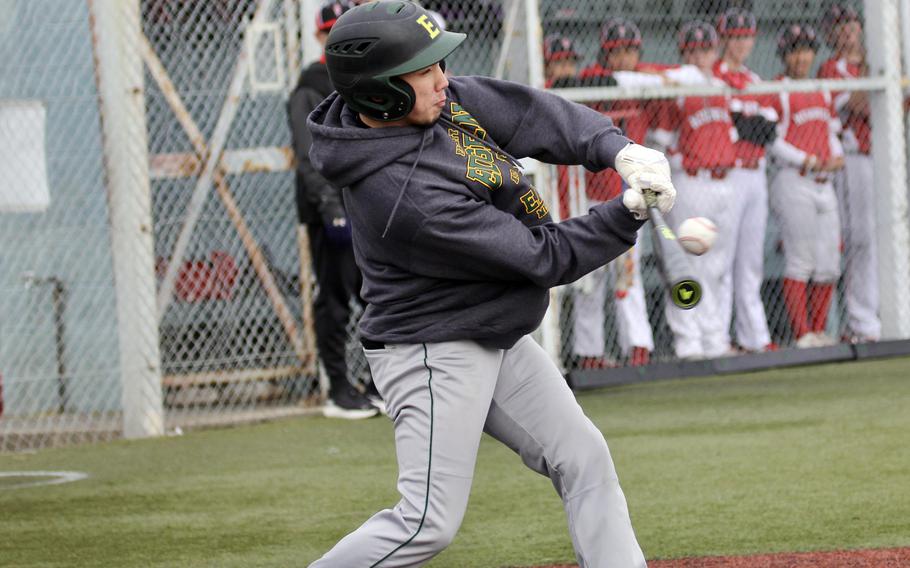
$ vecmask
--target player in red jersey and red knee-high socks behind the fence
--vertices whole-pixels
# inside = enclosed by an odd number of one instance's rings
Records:
[[[817,49],[811,26],[784,29],[777,50],[785,67],[781,80],[807,78]],[[828,92],[781,93],[775,105],[780,123],[771,151],[781,167],[771,203],[784,241],[784,303],[798,347],[831,345],[825,327],[840,274],[840,221],[831,183],[844,165],[840,120]]]

